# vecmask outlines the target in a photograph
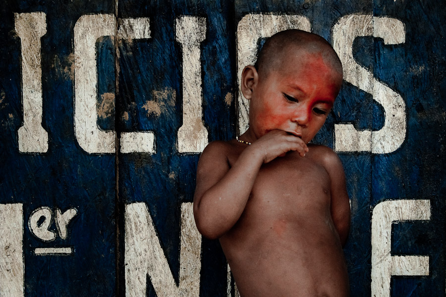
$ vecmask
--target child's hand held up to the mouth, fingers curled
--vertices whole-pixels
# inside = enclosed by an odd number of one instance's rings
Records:
[[[264,163],[268,163],[278,156],[284,156],[290,150],[296,150],[302,157],[308,152],[307,145],[300,137],[282,130],[268,132],[252,143],[251,148],[262,154]]]

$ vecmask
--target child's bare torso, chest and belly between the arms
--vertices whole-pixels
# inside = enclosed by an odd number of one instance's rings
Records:
[[[220,239],[240,295],[346,297],[328,174],[310,163],[290,175],[290,163],[262,168],[243,214]]]

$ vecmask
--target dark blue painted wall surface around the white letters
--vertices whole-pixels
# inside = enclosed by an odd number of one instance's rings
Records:
[[[117,3],[117,7],[115,6]],[[335,22],[347,14],[390,16],[405,25],[405,43],[384,45],[358,38],[353,56],[406,103],[406,138],[389,154],[342,152],[352,226],[345,255],[351,296],[370,296],[371,217],[388,199],[429,199],[431,220],[401,221],[392,228],[392,255],[429,255],[429,275],[393,277],[391,296],[445,296],[446,12],[438,2],[358,1],[142,1],[7,0],[0,5],[0,203],[23,203],[24,295],[124,296],[124,206],[145,202],[174,279],[179,271],[180,205],[190,202],[199,154],[179,153],[182,60],[175,19],[206,18],[201,43],[203,122],[209,141],[235,137],[237,125],[236,30],[249,13],[306,16],[312,32],[332,42]],[[22,153],[21,44],[14,13],[46,13],[42,42],[44,153]],[[115,104],[98,125],[116,132],[149,131],[156,153],[89,154],[74,135],[73,28],[80,16],[108,13],[150,18],[151,39],[97,41],[98,102]],[[116,50],[115,50],[116,46]],[[225,101],[228,98],[232,100]],[[158,97],[157,97],[158,96]],[[161,100],[161,101],[160,101]],[[163,101],[164,100],[164,101]],[[147,101],[160,112],[149,112]],[[333,112],[315,138],[332,147],[335,123],[379,130],[384,110],[372,96],[344,82]],[[66,240],[46,243],[27,225],[33,210],[49,206],[78,211]],[[52,225],[52,230],[56,230]],[[37,247],[74,247],[71,255],[37,256]],[[2,251],[0,251],[1,253]],[[0,270],[4,267],[0,267]],[[203,239],[200,296],[226,296],[226,262],[218,241]],[[0,287],[2,284],[0,283]],[[148,296],[156,296],[148,282]]]

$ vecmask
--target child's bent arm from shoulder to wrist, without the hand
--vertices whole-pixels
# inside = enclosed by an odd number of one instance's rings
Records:
[[[263,163],[246,148],[231,168],[225,146],[208,145],[197,167],[194,217],[200,233],[210,239],[221,237],[236,223]]]

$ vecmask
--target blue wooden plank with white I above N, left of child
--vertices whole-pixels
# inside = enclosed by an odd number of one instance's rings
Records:
[[[123,153],[120,139],[121,295],[226,293],[220,245],[196,232],[190,202],[199,153],[234,137],[232,9],[230,1],[119,1],[120,19],[148,18],[150,38],[118,41],[116,129],[155,137],[154,153]]]

